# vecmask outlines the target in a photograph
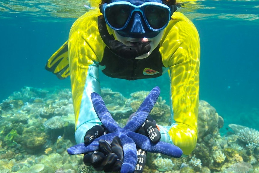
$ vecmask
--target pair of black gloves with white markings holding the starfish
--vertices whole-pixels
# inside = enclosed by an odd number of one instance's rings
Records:
[[[135,113],[130,116],[129,120],[134,115]],[[142,127],[136,132],[148,136],[152,143],[157,143],[161,138],[156,122],[151,116],[147,117],[147,120],[144,122]],[[95,125],[86,132],[84,136],[84,143],[89,144],[95,138],[102,136],[105,133],[105,129],[102,125]],[[138,160],[134,173],[142,173],[146,163],[147,154],[145,151],[137,147],[137,156]],[[114,137],[111,144],[105,140],[100,140],[98,151],[84,154],[84,164],[88,166],[92,165],[96,171],[103,170],[105,172],[120,172],[122,163],[123,149],[120,144],[119,137]]]

